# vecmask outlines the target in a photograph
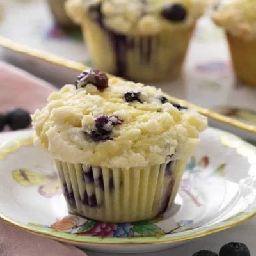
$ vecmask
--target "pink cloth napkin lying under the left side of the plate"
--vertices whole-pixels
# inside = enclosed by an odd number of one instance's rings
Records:
[[[0,112],[21,107],[33,113],[55,88],[18,68],[0,62]],[[12,132],[8,132],[8,137]],[[5,138],[5,137],[4,137]],[[1,140],[2,141],[2,140]],[[0,192],[1,193],[1,192]],[[81,250],[36,236],[0,220],[1,256],[86,256]]]

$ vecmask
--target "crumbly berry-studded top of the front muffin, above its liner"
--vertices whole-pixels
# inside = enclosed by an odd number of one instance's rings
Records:
[[[85,70],[32,115],[35,145],[68,163],[108,168],[186,159],[207,119],[152,86]]]

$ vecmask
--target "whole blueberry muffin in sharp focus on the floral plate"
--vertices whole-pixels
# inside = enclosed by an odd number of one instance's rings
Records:
[[[171,205],[207,120],[154,87],[85,70],[33,118],[71,212],[106,222],[154,218]]]

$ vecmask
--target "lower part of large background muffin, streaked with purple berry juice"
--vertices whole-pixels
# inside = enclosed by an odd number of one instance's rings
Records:
[[[154,36],[131,37],[89,19],[82,30],[94,67],[145,83],[180,77],[193,33],[193,28],[180,28]]]

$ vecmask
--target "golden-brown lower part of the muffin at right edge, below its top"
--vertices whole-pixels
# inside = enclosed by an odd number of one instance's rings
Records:
[[[227,33],[237,79],[246,86],[256,87],[256,39],[244,40]]]

